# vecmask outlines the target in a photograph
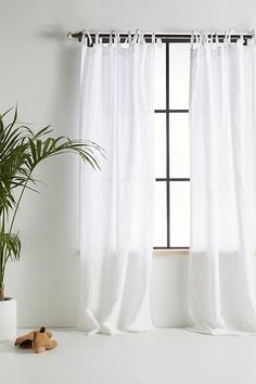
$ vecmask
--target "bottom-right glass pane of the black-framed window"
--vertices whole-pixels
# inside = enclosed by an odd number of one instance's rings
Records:
[[[190,182],[170,182],[170,246],[190,245]]]

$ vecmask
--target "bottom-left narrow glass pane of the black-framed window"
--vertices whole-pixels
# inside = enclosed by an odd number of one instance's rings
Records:
[[[166,182],[155,183],[154,246],[166,246]]]

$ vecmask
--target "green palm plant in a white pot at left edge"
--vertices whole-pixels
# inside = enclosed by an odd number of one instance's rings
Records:
[[[8,261],[18,260],[21,256],[22,243],[14,223],[25,190],[35,191],[35,168],[63,153],[75,153],[84,163],[99,168],[95,152],[102,154],[93,142],[51,137],[50,126],[34,133],[17,124],[17,108],[11,121],[5,123],[11,110],[0,115],[0,341],[16,333],[16,302],[4,294],[4,272]]]

